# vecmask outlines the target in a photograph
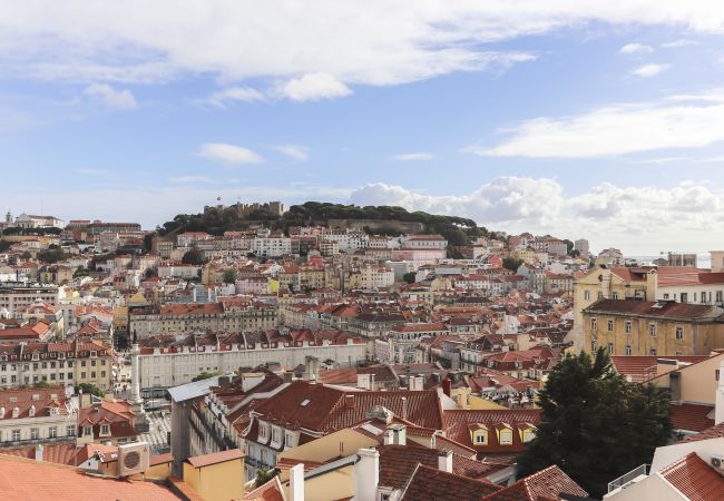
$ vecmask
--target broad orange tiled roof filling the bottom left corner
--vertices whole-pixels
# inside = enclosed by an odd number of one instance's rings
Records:
[[[153,482],[89,477],[75,468],[2,454],[0,454],[0,499],[17,501],[178,500],[168,489]]]

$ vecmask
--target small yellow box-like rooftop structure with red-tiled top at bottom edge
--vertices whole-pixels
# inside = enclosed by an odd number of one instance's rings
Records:
[[[239,449],[197,455],[184,461],[184,482],[204,501],[244,495],[244,453]]]

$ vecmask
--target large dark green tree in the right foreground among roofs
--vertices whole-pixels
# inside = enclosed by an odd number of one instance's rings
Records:
[[[594,360],[567,354],[539,400],[536,439],[518,458],[521,477],[557,464],[591,495],[649,462],[671,438],[669,401],[653,385],[628,383],[600,348]]]

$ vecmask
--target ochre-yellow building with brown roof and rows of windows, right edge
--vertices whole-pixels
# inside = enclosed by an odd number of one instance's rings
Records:
[[[584,345],[612,355],[707,355],[724,346],[715,306],[639,299],[600,299],[583,312]]]

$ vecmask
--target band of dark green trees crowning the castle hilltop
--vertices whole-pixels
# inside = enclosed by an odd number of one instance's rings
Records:
[[[479,236],[487,236],[488,230],[478,226],[472,219],[433,215],[423,212],[409,212],[394,206],[364,206],[306,202],[293,205],[282,216],[265,210],[256,210],[248,215],[239,215],[236,206],[211,207],[200,214],[179,214],[173,220],[157,228],[159,235],[183,232],[206,232],[222,235],[224,232],[244,230],[251,225],[263,223],[273,229],[286,232],[290,226],[327,224],[330,220],[354,220],[368,233],[397,235],[402,233],[400,225],[374,224],[374,228],[365,227],[364,222],[417,223],[419,233],[439,233],[451,245],[464,245]],[[358,226],[360,226],[358,225]],[[372,226],[372,225],[370,225]]]

